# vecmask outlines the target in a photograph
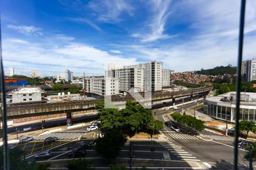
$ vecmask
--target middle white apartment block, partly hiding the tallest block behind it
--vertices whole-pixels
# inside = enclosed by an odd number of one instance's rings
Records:
[[[117,67],[115,67],[117,68]],[[106,77],[117,78],[119,80],[119,91],[129,91],[131,88],[138,92],[144,91],[144,69],[143,68],[126,68],[113,69],[106,71]]]

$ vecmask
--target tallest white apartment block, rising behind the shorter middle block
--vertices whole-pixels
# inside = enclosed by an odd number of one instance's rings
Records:
[[[163,62],[152,61],[146,63],[139,63],[137,65],[124,66],[124,68],[144,69],[144,91],[162,90]]]

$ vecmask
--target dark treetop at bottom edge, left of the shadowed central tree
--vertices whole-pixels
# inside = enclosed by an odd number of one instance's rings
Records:
[[[83,170],[83,169],[93,169],[91,168],[92,160],[86,159],[76,159],[67,162],[66,168],[69,170]]]

